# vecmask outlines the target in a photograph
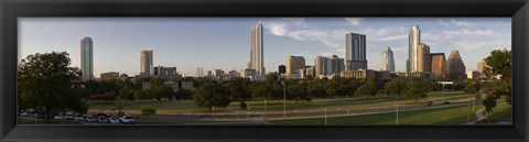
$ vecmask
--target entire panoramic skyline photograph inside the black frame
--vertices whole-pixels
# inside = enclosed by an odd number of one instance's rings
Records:
[[[510,18],[19,18],[18,28],[18,124],[512,124]]]

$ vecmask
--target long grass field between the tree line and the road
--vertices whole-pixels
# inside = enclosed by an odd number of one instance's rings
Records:
[[[425,100],[471,100],[472,95],[465,95],[462,91],[446,91],[445,95],[442,92],[429,92],[429,97],[425,99],[420,99],[419,103],[422,103]],[[235,112],[238,108],[239,102],[231,102],[227,108],[216,108],[215,111],[223,112]],[[264,103],[262,100],[247,101],[251,111],[264,111]],[[413,105],[414,100],[398,100],[396,96],[387,97],[349,97],[349,98],[332,98],[332,99],[312,99],[311,102],[295,102],[288,101],[287,109],[288,111],[311,111],[314,109],[326,108],[327,110],[344,110],[344,109],[361,109],[361,108],[374,108],[374,107],[387,107],[395,105]],[[95,112],[106,112],[114,113],[112,102],[96,102],[89,101],[88,108],[90,113]],[[141,106],[151,106],[156,109],[159,113],[195,113],[195,112],[209,112],[208,109],[196,108],[193,100],[176,100],[176,101],[127,101],[125,111],[128,113],[138,113]],[[267,111],[282,111],[283,101],[282,100],[269,100],[267,102]],[[240,109],[239,109],[240,111]]]

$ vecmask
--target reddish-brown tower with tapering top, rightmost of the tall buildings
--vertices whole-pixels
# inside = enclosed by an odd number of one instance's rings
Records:
[[[446,73],[449,74],[450,79],[455,80],[465,77],[465,64],[463,63],[458,51],[452,51],[450,53],[446,64]]]

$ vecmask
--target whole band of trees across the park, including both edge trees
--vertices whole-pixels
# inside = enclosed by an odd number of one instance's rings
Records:
[[[460,79],[446,86],[450,90],[464,90],[481,98],[481,92],[488,94],[483,103],[492,110],[497,99],[505,98],[509,103],[511,96],[510,51],[496,50],[485,59],[487,76],[501,75],[497,81],[478,81]],[[335,77],[332,79],[279,79],[267,75],[264,81],[250,81],[248,78],[233,78],[216,81],[209,78],[181,78],[174,81],[193,81],[194,88],[174,92],[162,79],[145,78],[132,83],[128,79],[88,80],[85,87],[76,87],[72,80],[80,80],[78,67],[71,67],[69,54],[52,52],[29,55],[18,66],[18,101],[19,110],[34,109],[46,117],[54,112],[75,111],[86,113],[88,100],[160,100],[187,99],[195,106],[214,109],[226,107],[233,101],[247,100],[282,100],[310,102],[313,98],[336,98],[365,96],[366,98],[384,95],[398,96],[399,99],[425,98],[429,91],[442,90],[442,85],[427,79],[376,80],[373,78],[353,79]],[[142,83],[150,87],[142,90]],[[115,102],[116,103],[116,102]]]

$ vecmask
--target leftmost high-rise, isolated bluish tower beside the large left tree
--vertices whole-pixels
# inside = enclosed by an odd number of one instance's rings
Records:
[[[94,42],[91,37],[80,40],[80,73],[83,80],[94,78]]]

